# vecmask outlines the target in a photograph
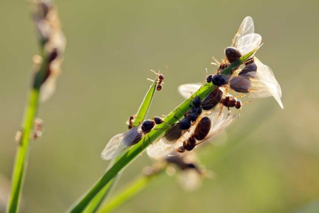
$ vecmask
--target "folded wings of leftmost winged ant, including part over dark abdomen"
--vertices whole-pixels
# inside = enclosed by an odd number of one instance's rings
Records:
[[[140,132],[140,126],[138,125],[124,134],[120,133],[113,136],[102,151],[101,158],[111,160],[119,156],[126,148],[136,144],[143,136]]]

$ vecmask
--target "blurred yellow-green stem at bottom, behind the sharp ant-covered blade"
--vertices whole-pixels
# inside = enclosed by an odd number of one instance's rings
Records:
[[[135,195],[137,195],[139,192],[141,192],[143,189],[146,188],[149,184],[151,184],[153,181],[159,179],[164,173],[164,169],[162,169],[160,172],[151,175],[151,176],[141,176],[135,181],[133,181],[131,184],[126,186],[124,190],[121,192],[117,193],[114,198],[108,202],[107,205],[104,207],[101,207],[101,209],[98,211],[98,213],[108,213],[112,212],[121,204],[124,202],[130,200],[133,198]]]

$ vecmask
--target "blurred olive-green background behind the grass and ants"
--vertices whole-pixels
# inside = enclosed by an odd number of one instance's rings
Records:
[[[154,78],[168,70],[149,118],[183,100],[177,86],[202,82],[211,56],[223,57],[241,21],[253,17],[263,37],[259,59],[273,68],[283,91],[255,99],[227,129],[223,146],[199,158],[215,173],[186,193],[164,176],[117,212],[319,212],[319,3],[308,1],[71,1],[56,0],[67,37],[63,73],[42,104],[45,130],[32,143],[21,213],[64,212],[104,173],[107,141],[127,130]],[[24,104],[38,53],[32,5],[0,1],[0,194],[10,179]],[[128,167],[123,188],[151,160]],[[1,196],[0,196],[1,198]],[[1,206],[1,205],[0,205]],[[316,209],[317,208],[317,209]],[[3,211],[3,209],[1,210]]]

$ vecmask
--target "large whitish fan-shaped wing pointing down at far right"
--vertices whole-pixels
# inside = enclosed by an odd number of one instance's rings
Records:
[[[252,79],[253,87],[249,92],[251,98],[265,98],[274,96],[281,108],[284,108],[281,102],[281,88],[277,82],[272,69],[264,65],[258,58],[255,57],[255,63],[257,65],[257,74],[255,79]]]

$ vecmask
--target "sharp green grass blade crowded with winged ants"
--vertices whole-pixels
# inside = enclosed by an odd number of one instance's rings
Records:
[[[226,69],[222,71],[222,74],[230,74],[232,70],[237,69],[243,62],[245,62],[255,51],[247,53],[241,58],[237,59],[235,62],[230,64]],[[204,99],[210,92],[212,92],[216,86],[212,84],[204,84],[199,90],[197,90],[193,97],[199,96],[200,99]],[[186,99],[183,103],[181,103],[175,110],[169,113],[165,119],[164,123],[159,124],[156,128],[152,129],[151,132],[141,139],[139,143],[134,145],[131,149],[129,149],[115,164],[110,170],[108,170],[97,182],[96,184],[87,192],[86,195],[83,196],[82,199],[76,203],[72,209],[71,213],[79,213],[82,212],[87,205],[92,201],[92,199],[104,188],[105,185],[109,183],[120,171],[122,171],[131,161],[133,161],[137,156],[139,156],[149,145],[158,139],[162,134],[167,130],[167,126],[165,123],[176,123],[175,117],[181,119],[189,109],[189,103],[192,100],[192,97]]]

